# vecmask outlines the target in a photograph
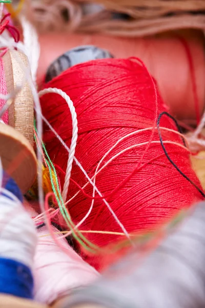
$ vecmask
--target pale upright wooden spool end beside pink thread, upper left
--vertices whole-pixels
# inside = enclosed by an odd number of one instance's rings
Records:
[[[19,61],[20,59],[20,61]],[[22,63],[20,63],[22,62]],[[12,92],[16,86],[21,86],[25,81],[25,71],[23,68],[29,68],[28,57],[19,51],[7,51],[3,56],[3,65],[5,71],[7,92]],[[26,82],[8,110],[9,125],[21,132],[33,145],[33,95],[31,87]]]

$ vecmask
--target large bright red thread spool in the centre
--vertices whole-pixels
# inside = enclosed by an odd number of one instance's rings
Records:
[[[47,87],[62,89],[74,103],[78,119],[75,157],[90,178],[100,159],[120,138],[138,129],[153,127],[156,116],[166,109],[159,94],[156,100],[156,88],[147,69],[136,59],[106,59],[76,65],[49,82]],[[67,103],[56,94],[46,94],[41,98],[41,105],[46,119],[70,146],[72,122]],[[162,117],[160,127],[176,131],[174,123],[167,117]],[[181,137],[176,133],[161,129],[161,134],[164,142],[182,145]],[[124,139],[109,153],[105,162],[129,146],[148,142],[151,136],[152,130],[146,130]],[[44,141],[53,162],[65,171],[67,151],[47,129]],[[156,130],[152,141],[159,142]],[[160,143],[151,143],[144,155],[146,147],[144,144],[125,151],[96,177],[96,186],[103,196],[107,196],[111,208],[129,233],[154,229],[179,209],[202,199],[197,189],[169,162]],[[174,163],[200,187],[190,166],[189,152],[176,144],[165,142],[165,147]],[[141,158],[138,169],[126,180]],[[75,163],[71,178],[81,187],[87,182]],[[76,191],[78,188],[71,182],[67,199]],[[90,184],[85,192],[92,196]],[[75,223],[83,219],[90,205],[91,199],[83,192],[68,204]],[[122,232],[101,199],[94,201],[92,213],[80,229]],[[100,247],[121,239],[119,235],[86,236]],[[103,264],[100,258],[93,259],[88,254],[86,258],[97,269]]]

